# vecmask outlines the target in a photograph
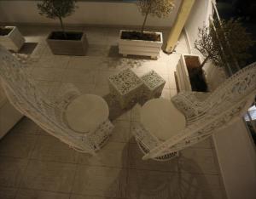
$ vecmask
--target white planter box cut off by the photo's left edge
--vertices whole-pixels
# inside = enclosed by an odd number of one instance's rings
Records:
[[[0,36],[0,44],[3,47],[18,52],[25,43],[25,38],[21,35],[16,26],[5,26],[5,28],[12,29],[8,35]]]

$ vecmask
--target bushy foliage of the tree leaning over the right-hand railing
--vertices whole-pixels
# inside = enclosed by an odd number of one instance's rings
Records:
[[[195,48],[205,57],[201,67],[212,60],[216,66],[242,65],[250,57],[248,48],[255,42],[251,34],[242,26],[240,19],[221,20],[215,22],[214,27],[203,26],[199,28]]]

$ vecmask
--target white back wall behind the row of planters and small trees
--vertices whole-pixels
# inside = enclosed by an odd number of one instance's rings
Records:
[[[176,7],[167,18],[149,17],[147,26],[172,26],[181,0],[176,0]],[[0,23],[55,24],[38,14],[37,1],[0,1]],[[79,2],[79,9],[67,17],[64,22],[69,25],[107,25],[107,26],[141,26],[143,16],[135,3],[100,3]]]

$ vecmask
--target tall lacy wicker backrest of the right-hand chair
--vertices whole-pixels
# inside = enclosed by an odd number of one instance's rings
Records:
[[[148,152],[143,159],[180,151],[207,139],[244,115],[256,95],[256,62],[236,72],[201,103],[204,111],[176,136]]]

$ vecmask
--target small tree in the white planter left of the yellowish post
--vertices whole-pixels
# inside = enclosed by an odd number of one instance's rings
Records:
[[[174,8],[174,0],[138,0],[137,6],[140,12],[145,15],[143,21],[142,33],[148,14],[159,18],[166,17]]]

